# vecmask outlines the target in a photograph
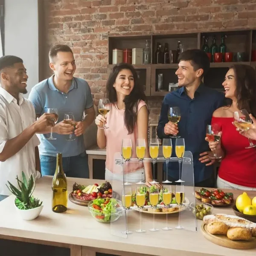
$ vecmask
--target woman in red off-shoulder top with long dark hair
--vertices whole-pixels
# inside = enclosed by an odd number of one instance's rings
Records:
[[[234,65],[228,70],[222,85],[225,97],[231,99],[231,103],[213,113],[212,124],[221,126],[222,135],[219,142],[209,142],[211,150],[222,157],[217,187],[256,190],[256,148],[246,148],[248,139],[239,134],[232,123],[233,112],[241,109],[256,116],[255,70],[248,65]]]

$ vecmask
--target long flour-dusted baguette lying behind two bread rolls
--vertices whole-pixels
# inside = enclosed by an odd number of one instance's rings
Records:
[[[250,230],[252,236],[256,236],[256,223],[247,221],[246,219],[238,216],[227,214],[205,215],[203,221],[205,224],[209,224],[211,222],[222,222],[229,227],[243,227]]]

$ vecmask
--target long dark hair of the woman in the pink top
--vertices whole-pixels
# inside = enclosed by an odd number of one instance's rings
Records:
[[[113,67],[110,76],[107,81],[107,96],[111,103],[117,102],[116,89],[113,87],[113,84],[116,81],[121,70],[128,69],[131,70],[131,73],[134,77],[134,88],[131,93],[125,96],[125,126],[128,130],[128,134],[133,133],[134,126],[137,121],[138,114],[138,103],[140,100],[146,101],[146,96],[143,90],[143,85],[139,83],[139,79],[136,73],[136,70],[131,64],[121,63]]]

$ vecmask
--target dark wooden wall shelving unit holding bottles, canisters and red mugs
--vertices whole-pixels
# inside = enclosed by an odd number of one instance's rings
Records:
[[[227,52],[246,52],[246,58],[242,62],[211,62],[210,71],[204,77],[204,83],[216,90],[223,90],[222,81],[228,68],[234,64],[251,65],[256,69],[256,61],[251,61],[251,52],[256,49],[256,30],[223,30],[219,32],[200,32],[186,34],[169,34],[169,35],[128,35],[128,36],[109,36],[108,38],[108,72],[111,71],[112,65],[112,50],[115,48],[145,48],[145,40],[148,40],[151,47],[151,64],[134,65],[134,68],[140,73],[140,82],[145,86],[145,94],[147,96],[165,96],[168,92],[169,83],[176,83],[177,76],[175,72],[178,64],[155,64],[155,51],[157,43],[164,45],[167,43],[169,50],[177,49],[177,42],[181,41],[183,50],[186,49],[201,49],[204,44],[203,36],[209,38],[208,45],[212,44],[212,36],[217,38],[217,45],[221,41],[221,35],[227,35],[225,44]],[[161,49],[163,51],[163,49]],[[166,91],[157,90],[158,74],[163,74],[163,88]]]

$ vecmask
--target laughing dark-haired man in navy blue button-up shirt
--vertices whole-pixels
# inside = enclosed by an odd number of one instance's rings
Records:
[[[185,150],[191,151],[194,160],[195,186],[213,187],[214,159],[209,154],[206,137],[206,127],[211,124],[212,113],[224,105],[224,93],[206,87],[203,76],[208,72],[210,62],[207,54],[199,49],[190,49],[182,52],[178,59],[179,89],[168,93],[164,99],[157,126],[157,135],[160,139],[170,135],[179,135],[185,140]],[[179,107],[181,119],[178,124],[168,120],[168,109]],[[175,145],[175,139],[172,140]],[[209,154],[208,154],[209,153]],[[172,157],[175,157],[173,151]],[[166,172],[166,165],[164,171]],[[179,179],[177,162],[169,162],[169,177],[171,181]]]

